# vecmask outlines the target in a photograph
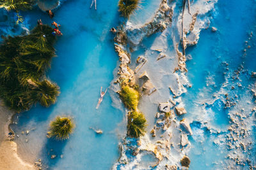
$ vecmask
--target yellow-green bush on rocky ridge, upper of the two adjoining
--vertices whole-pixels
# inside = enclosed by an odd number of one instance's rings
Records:
[[[140,99],[140,93],[137,90],[132,89],[132,87],[129,87],[129,85],[122,85],[119,94],[125,107],[127,107],[129,110],[137,110]]]

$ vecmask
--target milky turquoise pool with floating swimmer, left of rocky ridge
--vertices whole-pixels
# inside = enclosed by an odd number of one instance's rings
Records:
[[[65,1],[54,11],[53,20],[61,24],[63,36],[56,42],[56,54],[52,69],[47,76],[58,83],[61,89],[58,102],[50,108],[36,106],[20,114],[15,127],[17,142],[23,145],[21,152],[42,159],[49,169],[110,169],[118,159],[118,141],[125,135],[124,112],[111,106],[108,90],[99,110],[96,110],[100,87],[105,90],[113,80],[113,70],[118,56],[113,46],[113,35],[109,30],[118,23],[117,0],[98,1],[97,11],[90,10],[90,1]],[[108,7],[108,8],[106,8]],[[22,16],[29,20],[30,29],[38,18],[45,24],[51,20],[37,8]],[[76,122],[74,134],[63,143],[47,139],[45,134],[52,118],[69,115]],[[104,132],[97,135],[92,129]],[[35,129],[35,130],[33,130]],[[120,129],[120,130],[119,130]],[[28,136],[21,131],[32,130]],[[24,140],[28,138],[28,143]],[[51,159],[51,155],[56,159]],[[63,158],[60,158],[63,155]]]

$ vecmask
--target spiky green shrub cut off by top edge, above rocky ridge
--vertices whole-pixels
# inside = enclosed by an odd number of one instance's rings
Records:
[[[140,0],[120,0],[118,7],[121,15],[129,17],[139,7]]]

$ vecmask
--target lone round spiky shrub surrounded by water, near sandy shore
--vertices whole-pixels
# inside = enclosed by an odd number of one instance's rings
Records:
[[[56,117],[50,124],[49,136],[56,140],[65,140],[74,129],[74,122],[69,117]]]

